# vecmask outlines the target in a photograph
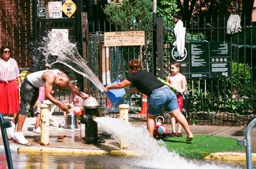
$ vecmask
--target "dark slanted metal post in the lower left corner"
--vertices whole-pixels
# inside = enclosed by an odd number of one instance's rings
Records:
[[[12,127],[12,124],[11,124],[11,122],[4,122],[4,118],[1,113],[0,113],[0,126],[1,126],[1,133],[2,133],[2,137],[3,137],[4,151],[5,151],[5,155],[6,155],[8,168],[12,169],[13,168],[12,155],[11,155],[10,146],[9,146],[9,142],[8,142],[8,136],[6,133],[6,128]]]

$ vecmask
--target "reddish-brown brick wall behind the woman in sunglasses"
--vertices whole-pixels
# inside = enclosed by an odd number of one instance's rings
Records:
[[[0,46],[9,45],[20,68],[30,66],[32,0],[0,0]]]

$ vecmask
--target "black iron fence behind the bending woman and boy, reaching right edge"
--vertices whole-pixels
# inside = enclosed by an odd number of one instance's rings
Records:
[[[227,77],[195,78],[188,75],[188,89],[183,113],[191,124],[241,126],[255,118],[256,61],[253,55],[255,53],[255,38],[253,38],[256,34],[255,26],[242,24],[240,33],[227,34],[226,22],[227,17],[219,19],[205,16],[204,18],[193,18],[189,24],[191,27],[186,27],[186,47],[193,43],[211,44],[216,41],[230,45],[230,67],[228,67],[230,71]],[[184,25],[186,26],[186,23]],[[145,46],[104,47],[104,33],[112,31],[145,31]],[[117,27],[108,22],[88,23],[86,33],[88,36],[88,58],[94,59],[88,62],[90,68],[99,75],[104,84],[113,82],[118,77],[124,79],[129,76],[127,62],[133,58],[140,59],[143,68],[152,73],[156,71],[158,74],[159,70],[153,69],[154,64],[159,65],[154,62],[153,56],[152,36],[154,31],[142,24],[138,27]],[[175,40],[173,24],[164,23],[162,35],[164,45],[161,50],[163,50],[163,68],[164,77],[166,77],[170,72],[170,62],[173,61],[172,43]],[[95,45],[98,47],[95,48]],[[158,58],[158,60],[160,59]],[[102,72],[106,73],[106,70],[102,70],[102,68],[106,69],[108,66],[109,75],[102,76]],[[95,90],[97,91],[95,87],[94,89],[92,87],[92,92]],[[101,100],[102,114],[108,114],[111,105],[106,101],[106,97],[100,93],[97,97]],[[132,119],[140,119],[140,93],[125,96],[125,103],[131,107]],[[166,113],[163,115],[168,117]]]

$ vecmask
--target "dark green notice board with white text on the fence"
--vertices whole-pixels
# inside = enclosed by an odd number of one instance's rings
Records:
[[[186,43],[184,55],[177,55],[176,47],[173,47],[170,53],[171,62],[180,62],[180,73],[186,78],[221,78],[230,75],[230,43]]]

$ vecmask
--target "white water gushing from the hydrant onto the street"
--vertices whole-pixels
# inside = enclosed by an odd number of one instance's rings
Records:
[[[234,168],[234,166],[188,161],[175,152],[168,152],[164,145],[159,144],[156,139],[149,136],[147,129],[136,128],[131,123],[122,121],[122,119],[96,117],[94,120],[108,133],[112,133],[116,138],[122,138],[129,149],[142,152],[142,156],[137,158],[133,165],[163,169]]]

